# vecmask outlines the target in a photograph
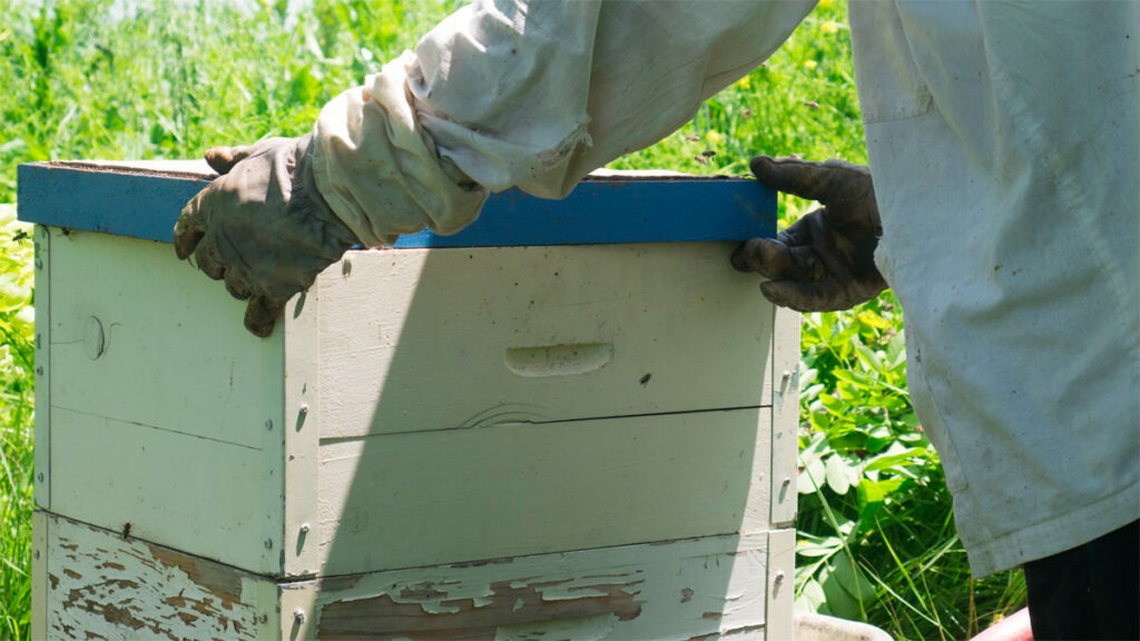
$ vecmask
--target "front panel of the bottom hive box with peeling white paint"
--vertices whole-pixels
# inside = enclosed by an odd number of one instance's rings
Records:
[[[317,630],[363,636],[368,617],[385,625],[414,608],[424,626],[433,617],[442,617],[448,630],[498,622],[496,638],[510,640],[667,641],[718,639],[731,631],[764,639],[767,538],[712,536],[331,579],[319,590]],[[790,607],[785,615],[790,620]]]

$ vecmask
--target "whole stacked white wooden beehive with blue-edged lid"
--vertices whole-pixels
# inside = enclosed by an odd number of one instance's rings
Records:
[[[790,636],[798,320],[727,262],[769,194],[499,195],[258,339],[161,242],[196,168],[21,169],[36,638]]]

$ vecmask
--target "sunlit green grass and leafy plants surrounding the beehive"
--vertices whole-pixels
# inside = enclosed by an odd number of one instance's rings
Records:
[[[16,164],[194,157],[298,135],[321,104],[412,47],[456,0],[0,3],[0,203]],[[865,162],[846,6],[822,0],[763,67],[617,169],[747,173],[755,154]],[[782,198],[787,224],[811,206]],[[28,623],[31,243],[0,211],[0,639]],[[962,639],[1021,607],[1019,573],[970,578],[950,497],[905,393],[902,313],[888,293],[804,319],[797,601],[903,639]]]

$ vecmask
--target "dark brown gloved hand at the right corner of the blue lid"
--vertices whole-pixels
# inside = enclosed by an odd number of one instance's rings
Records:
[[[775,240],[751,238],[733,252],[738,270],[769,278],[760,285],[766,299],[797,311],[836,311],[887,289],[874,266],[882,226],[865,167],[757,156],[751,168],[762,184],[823,205]]]

